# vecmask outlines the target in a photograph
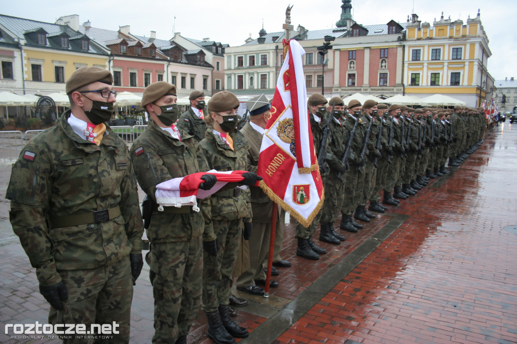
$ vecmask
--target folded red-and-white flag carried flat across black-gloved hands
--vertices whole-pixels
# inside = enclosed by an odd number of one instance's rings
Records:
[[[244,180],[242,174],[246,171],[216,171],[215,169],[208,172],[198,172],[185,177],[173,178],[156,185],[156,203],[158,211],[163,211],[163,207],[183,207],[192,206],[194,211],[199,211],[196,198],[206,198],[219,190],[230,182],[240,182]],[[210,190],[201,190],[199,186],[203,183],[201,176],[214,175],[217,182]],[[247,186],[238,186],[247,189]],[[161,209],[161,210],[160,210]]]

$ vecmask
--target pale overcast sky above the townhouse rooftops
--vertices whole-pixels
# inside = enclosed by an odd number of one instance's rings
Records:
[[[289,1],[294,4],[291,20],[295,28],[332,28],[340,19],[340,0]],[[208,37],[235,46],[243,44],[250,34],[258,37],[263,22],[268,33],[282,31],[288,4],[278,0],[22,0],[3,1],[0,13],[51,23],[63,15],[79,14],[81,23],[89,20],[93,27],[118,30],[119,26],[130,25],[131,33],[136,35],[148,37],[154,30],[157,38],[169,40],[173,32],[180,32],[184,37]],[[431,25],[435,18],[439,20],[442,11],[444,18],[450,15],[451,20],[461,19],[466,24],[468,15],[474,18],[479,8],[490,40],[490,74],[496,80],[517,78],[515,0],[353,0],[352,5],[354,20],[363,25],[386,24],[392,19],[405,22],[413,9],[422,22]]]

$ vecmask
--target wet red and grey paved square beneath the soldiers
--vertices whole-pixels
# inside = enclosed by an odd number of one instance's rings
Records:
[[[318,261],[295,255],[287,226],[280,284],[270,297],[252,296],[234,318],[250,337],[241,343],[511,343],[517,342],[517,126],[499,126],[451,174],[432,179],[416,196],[378,215],[346,241],[316,241]],[[5,197],[10,167],[0,166]],[[34,269],[0,203],[0,326],[46,322],[48,304]],[[317,238],[316,232],[315,238]],[[145,252],[144,252],[145,254]],[[132,305],[132,343],[150,343],[153,296],[148,267]],[[202,312],[189,343],[211,343]],[[11,339],[2,343],[54,343]]]

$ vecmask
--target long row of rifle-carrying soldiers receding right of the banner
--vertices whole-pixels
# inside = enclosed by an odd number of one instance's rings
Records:
[[[308,99],[314,147],[325,186],[325,203],[309,228],[296,227],[296,254],[318,259],[326,250],[312,241],[318,222],[320,240],[339,244],[345,237],[334,229],[357,232],[376,215],[415,195],[430,178],[448,174],[482,142],[486,122],[481,108],[455,106],[418,108],[351,100]],[[323,146],[323,147],[322,147]],[[383,197],[381,192],[384,192]],[[382,204],[381,204],[382,198]],[[366,208],[369,202],[368,209]],[[370,212],[372,211],[372,212]]]

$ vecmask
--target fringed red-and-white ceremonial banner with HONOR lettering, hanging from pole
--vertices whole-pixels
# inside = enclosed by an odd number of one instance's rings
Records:
[[[300,224],[309,227],[320,211],[324,190],[307,109],[302,56],[295,40],[280,69],[271,116],[266,124],[257,175],[260,186]]]

